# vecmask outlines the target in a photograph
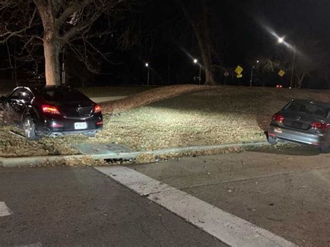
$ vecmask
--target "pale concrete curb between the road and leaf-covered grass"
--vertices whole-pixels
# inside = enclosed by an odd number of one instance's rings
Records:
[[[225,145],[204,145],[204,146],[191,146],[185,148],[168,148],[162,150],[152,151],[137,151],[137,152],[121,152],[119,154],[75,154],[75,155],[58,155],[58,156],[42,156],[42,157],[17,157],[17,158],[0,158],[0,167],[29,167],[36,166],[45,162],[61,161],[65,159],[83,159],[85,157],[91,157],[95,160],[101,159],[136,159],[140,154],[173,154],[180,152],[191,152],[191,151],[207,151],[221,148],[246,148],[246,147],[260,147],[269,145],[267,142],[262,143],[240,143],[240,144],[225,144]]]

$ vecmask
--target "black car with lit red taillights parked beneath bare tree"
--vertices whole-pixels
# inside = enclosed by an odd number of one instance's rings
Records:
[[[86,134],[103,127],[100,106],[66,86],[18,87],[0,102],[3,121],[24,130],[29,140],[41,136]]]

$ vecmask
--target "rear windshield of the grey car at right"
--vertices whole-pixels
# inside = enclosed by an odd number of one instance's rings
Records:
[[[292,102],[285,106],[285,111],[294,111],[299,113],[306,113],[308,115],[315,115],[322,118],[327,118],[329,114],[329,107],[313,102]]]

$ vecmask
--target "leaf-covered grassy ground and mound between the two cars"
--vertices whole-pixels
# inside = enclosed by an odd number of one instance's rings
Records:
[[[164,93],[166,88],[157,89],[156,93],[150,90],[149,95],[147,92],[143,95],[148,97],[149,103],[162,98]],[[265,141],[264,131],[272,114],[290,99],[330,102],[329,91],[230,86],[204,87],[201,91],[175,97],[169,95],[168,99],[147,105],[145,101],[136,102],[142,106],[127,111],[120,110],[127,106],[132,108],[134,97],[107,103],[108,108],[104,109],[119,114],[104,115],[104,130],[95,138],[79,135],[31,142],[10,134],[8,131],[13,127],[0,127],[0,156],[77,154],[72,145],[83,142],[120,143],[135,150],[155,150]],[[141,96],[136,100],[141,100]]]

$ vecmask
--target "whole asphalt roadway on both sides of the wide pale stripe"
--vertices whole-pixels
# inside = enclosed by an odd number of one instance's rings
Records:
[[[127,168],[299,246],[330,246],[330,154],[265,149]],[[0,202],[13,212],[1,216],[0,204],[0,246],[224,245],[153,198],[94,168],[0,168]]]

